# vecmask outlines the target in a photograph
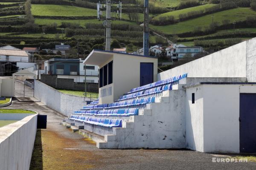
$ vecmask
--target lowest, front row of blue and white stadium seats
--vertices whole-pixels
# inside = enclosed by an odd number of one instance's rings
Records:
[[[89,118],[89,117],[74,116],[74,115],[72,115],[69,119],[88,123],[91,125],[104,126],[104,127],[122,127],[121,119],[99,119],[99,118],[93,118],[93,117]]]

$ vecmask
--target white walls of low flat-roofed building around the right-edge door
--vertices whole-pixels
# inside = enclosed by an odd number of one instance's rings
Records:
[[[195,104],[191,94],[195,93]],[[239,95],[256,85],[197,85],[186,88],[186,146],[207,153],[239,153]]]

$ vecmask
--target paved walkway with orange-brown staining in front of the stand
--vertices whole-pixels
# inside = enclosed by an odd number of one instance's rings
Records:
[[[64,116],[41,102],[14,101],[6,108],[31,109],[47,115],[47,129],[37,133],[31,170],[256,169],[256,162],[212,163],[216,155],[191,150],[98,149],[94,142],[59,125]]]

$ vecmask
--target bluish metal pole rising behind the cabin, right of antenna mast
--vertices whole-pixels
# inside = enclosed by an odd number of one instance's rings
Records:
[[[149,55],[149,8],[148,8],[148,0],[144,0],[144,33],[143,33],[143,54],[144,56]]]

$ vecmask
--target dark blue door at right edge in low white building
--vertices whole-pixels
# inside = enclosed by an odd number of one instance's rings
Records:
[[[240,152],[256,152],[256,94],[240,94]]]

